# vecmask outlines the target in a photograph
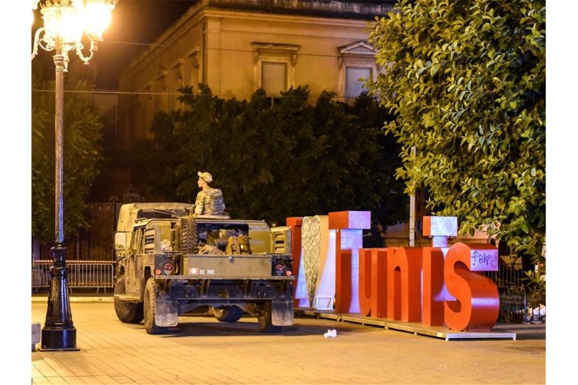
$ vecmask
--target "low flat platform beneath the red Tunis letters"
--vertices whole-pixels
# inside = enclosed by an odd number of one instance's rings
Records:
[[[512,332],[469,332],[454,331],[445,326],[425,326],[417,322],[399,322],[385,318],[364,317],[360,314],[336,314],[332,311],[319,311],[313,309],[297,308],[295,315],[310,316],[324,319],[331,319],[337,322],[351,322],[362,325],[383,327],[386,330],[397,330],[413,333],[414,335],[425,335],[450,341],[450,339],[513,339],[516,340],[516,333]]]

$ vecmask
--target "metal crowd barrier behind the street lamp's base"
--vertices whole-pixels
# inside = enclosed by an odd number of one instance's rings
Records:
[[[50,286],[51,260],[32,261],[32,289],[38,291],[40,287]],[[68,272],[68,287],[72,291],[75,287],[95,287],[97,293],[114,286],[113,261],[66,261]]]

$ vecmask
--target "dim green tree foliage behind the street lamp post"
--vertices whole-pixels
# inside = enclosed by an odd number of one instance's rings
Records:
[[[33,80],[34,89],[54,81]],[[86,84],[67,87],[87,91]],[[102,122],[91,99],[64,95],[64,235],[86,227],[88,192],[102,160]],[[54,92],[32,92],[32,236],[54,240]]]

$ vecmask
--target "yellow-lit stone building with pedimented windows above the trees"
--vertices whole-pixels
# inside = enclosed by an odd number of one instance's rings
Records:
[[[362,91],[360,78],[381,70],[367,43],[370,22],[394,1],[201,0],[120,74],[119,139],[150,137],[156,111],[181,108],[181,87],[209,85],[221,98],[274,98],[308,85],[342,100]]]

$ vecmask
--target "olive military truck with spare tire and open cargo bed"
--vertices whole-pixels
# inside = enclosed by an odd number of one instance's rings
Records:
[[[293,324],[291,233],[263,220],[194,215],[188,203],[120,208],[114,310],[149,334],[185,314],[236,322],[257,317],[262,332]]]

